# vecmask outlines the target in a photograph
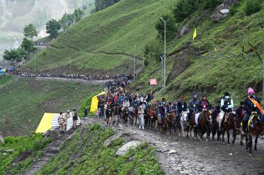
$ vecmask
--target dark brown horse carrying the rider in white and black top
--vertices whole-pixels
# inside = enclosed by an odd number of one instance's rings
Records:
[[[220,115],[217,116],[217,118],[219,118]],[[227,132],[227,146],[230,146],[230,142],[229,142],[229,138],[230,138],[230,133],[229,130],[233,130],[233,141],[232,143],[235,144],[235,140],[236,140],[236,131],[238,128],[238,130],[240,129],[240,123],[238,122],[239,117],[237,117],[236,113],[227,113],[226,115],[224,115],[224,119],[222,120],[222,128],[223,131],[219,131],[217,129],[217,142],[219,142],[220,139],[220,135],[222,134],[222,144],[225,144],[224,142],[224,133]],[[219,127],[219,122],[217,122],[217,128]]]

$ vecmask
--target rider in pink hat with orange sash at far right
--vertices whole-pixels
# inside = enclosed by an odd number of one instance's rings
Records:
[[[263,109],[261,108],[261,101],[256,97],[255,92],[252,88],[247,91],[248,97],[245,99],[245,110],[246,114],[242,120],[242,130],[245,134],[247,131],[247,122],[251,115],[258,115],[260,118],[263,115]]]

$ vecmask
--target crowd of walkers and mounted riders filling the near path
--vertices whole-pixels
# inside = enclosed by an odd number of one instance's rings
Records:
[[[261,103],[252,88],[249,88],[248,97],[245,101],[240,101],[240,106],[235,110],[229,92],[225,92],[220,105],[213,108],[206,95],[199,99],[195,93],[190,101],[186,101],[184,95],[179,97],[179,101],[168,102],[165,98],[158,101],[157,99],[154,100],[153,94],[133,94],[125,90],[127,83],[119,79],[106,83],[108,93],[106,97],[99,99],[98,115],[106,118],[108,126],[117,126],[119,123],[133,126],[133,122],[136,125],[138,120],[137,126],[140,129],[145,129],[146,126],[155,127],[158,117],[165,126],[165,116],[167,114],[174,113],[177,122],[181,113],[187,112],[188,123],[190,124],[193,116],[195,117],[195,127],[198,127],[200,116],[204,111],[211,113],[213,123],[217,123],[218,131],[222,131],[223,123],[226,122],[224,118],[229,113],[236,113],[242,120],[242,131],[245,133],[248,133],[247,122],[251,115],[258,115],[260,122],[264,122]],[[150,103],[151,100],[154,100],[154,102]],[[193,113],[195,115],[192,115]]]

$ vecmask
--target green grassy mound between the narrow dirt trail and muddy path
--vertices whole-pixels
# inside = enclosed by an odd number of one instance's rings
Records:
[[[114,133],[99,124],[80,128],[76,137],[65,142],[58,156],[37,174],[164,174],[154,148],[147,143],[130,149],[124,156],[115,155],[124,142],[123,138],[104,147],[104,141]]]

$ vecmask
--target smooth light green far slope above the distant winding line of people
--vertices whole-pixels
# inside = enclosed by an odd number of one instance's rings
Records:
[[[72,65],[83,72],[90,72],[90,69],[109,72],[104,70],[105,64],[114,64],[115,68],[124,65],[126,72],[130,72],[133,70],[134,45],[136,56],[142,58],[145,44],[156,37],[156,20],[174,3],[164,2],[123,0],[82,19],[38,55],[38,71],[69,67],[69,60],[72,59]],[[123,56],[125,60],[122,63],[120,59]],[[141,61],[138,60],[139,65],[142,65]],[[32,69],[33,62],[26,68]]]

